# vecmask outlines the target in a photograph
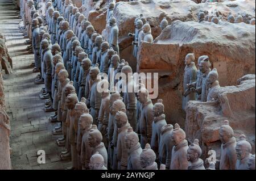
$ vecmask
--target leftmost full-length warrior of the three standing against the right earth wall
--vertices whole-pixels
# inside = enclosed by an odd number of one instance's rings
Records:
[[[187,102],[189,100],[196,100],[196,92],[187,89],[187,85],[196,81],[196,66],[195,66],[195,54],[188,53],[185,57],[185,69],[184,69],[184,79],[183,79],[183,99],[182,108],[185,110]]]

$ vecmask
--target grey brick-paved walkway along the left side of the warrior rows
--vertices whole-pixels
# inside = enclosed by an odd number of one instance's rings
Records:
[[[44,100],[39,98],[43,85],[35,85],[38,73],[30,67],[33,54],[28,54],[22,33],[19,32],[20,19],[11,0],[0,0],[0,32],[6,36],[6,46],[13,57],[14,72],[3,75],[5,102],[10,116],[10,147],[13,149],[11,162],[13,169],[65,169],[71,163],[60,161],[60,148],[52,129],[56,124],[49,122],[51,113],[43,110]],[[46,151],[46,164],[39,165],[36,153]]]

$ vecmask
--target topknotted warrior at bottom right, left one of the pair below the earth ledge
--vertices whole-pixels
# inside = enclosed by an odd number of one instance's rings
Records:
[[[235,170],[237,155],[236,155],[236,138],[234,131],[229,126],[229,121],[225,120],[224,125],[220,127],[221,144],[221,159],[220,170]]]

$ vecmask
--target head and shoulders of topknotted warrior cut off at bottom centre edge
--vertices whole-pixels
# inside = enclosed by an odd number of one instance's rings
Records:
[[[158,170],[158,165],[155,162],[155,152],[150,148],[150,144],[146,144],[141,153],[142,170]]]

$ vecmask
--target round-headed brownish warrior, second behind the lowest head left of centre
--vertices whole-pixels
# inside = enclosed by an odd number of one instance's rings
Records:
[[[79,127],[82,134],[82,140],[77,140],[77,153],[80,154],[82,170],[89,169],[89,159],[92,148],[89,146],[88,135],[92,129],[93,117],[89,113],[83,113],[79,119]],[[78,135],[79,139],[80,136]],[[80,147],[81,146],[81,147]]]

